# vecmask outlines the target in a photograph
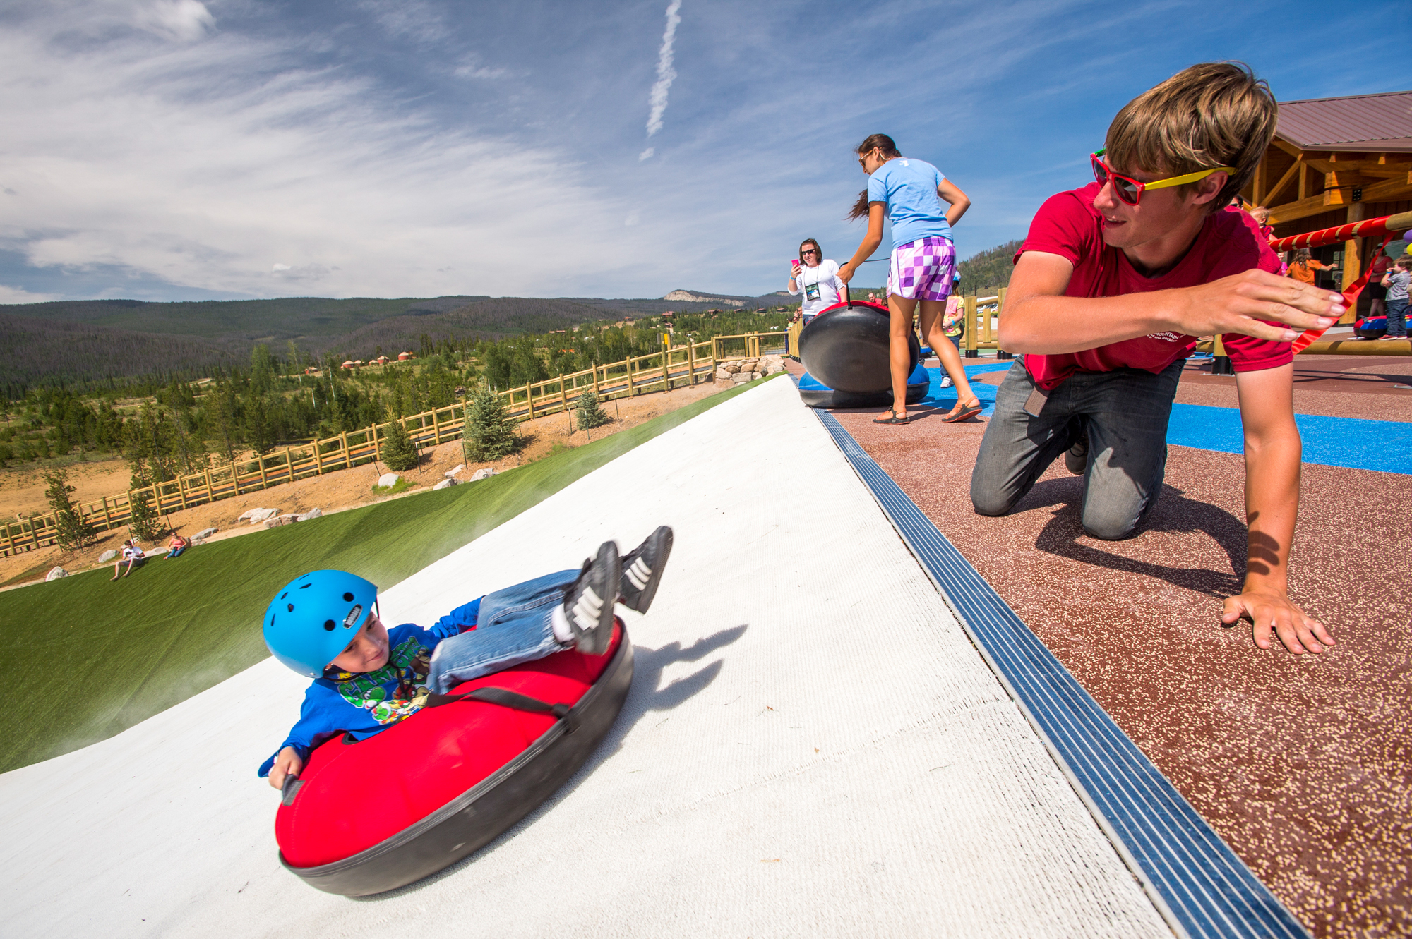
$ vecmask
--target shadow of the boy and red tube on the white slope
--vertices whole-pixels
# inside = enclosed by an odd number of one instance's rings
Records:
[[[700,661],[706,656],[712,654],[717,649],[731,644],[737,639],[746,634],[750,627],[748,623],[741,623],[740,626],[731,626],[730,629],[722,629],[720,632],[712,633],[698,639],[690,646],[682,647],[681,643],[666,643],[659,649],[648,649],[645,646],[633,646],[633,687],[628,689],[627,701],[623,702],[623,711],[618,712],[617,720],[609,729],[607,735],[593,750],[593,756],[585,761],[582,767],[569,778],[568,782],[555,790],[554,795],[541,802],[532,812],[525,815],[522,819],[505,829],[493,842],[474,852],[473,854],[463,857],[450,867],[445,867],[435,874],[428,874],[426,877],[407,884],[405,887],[398,887],[397,890],[390,890],[381,894],[373,894],[370,897],[350,897],[349,900],[377,902],[380,900],[391,900],[394,897],[402,897],[405,894],[417,892],[424,887],[438,883],[445,877],[452,877],[456,871],[477,863],[483,857],[489,857],[497,847],[504,845],[508,839],[515,837],[521,830],[534,825],[535,821],[545,812],[554,809],[555,805],[562,802],[570,792],[579,788],[583,780],[603,764],[610,756],[623,749],[623,739],[627,733],[637,726],[638,720],[642,718],[658,713],[662,711],[671,711],[678,705],[683,704],[688,698],[692,698],[706,689],[710,682],[716,681],[716,675],[720,674],[723,667],[723,660],[717,658],[703,668],[698,668],[690,675],[678,678],[662,687],[662,673],[668,665],[676,664],[679,661]]]

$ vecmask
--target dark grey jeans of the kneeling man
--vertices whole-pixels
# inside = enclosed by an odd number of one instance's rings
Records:
[[[1049,392],[1035,417],[1025,412],[1035,383],[1017,358],[995,393],[971,471],[976,512],[1010,512],[1087,429],[1083,529],[1107,541],[1137,534],[1162,491],[1166,422],[1182,365],[1179,360],[1156,375],[1132,368],[1077,372]]]

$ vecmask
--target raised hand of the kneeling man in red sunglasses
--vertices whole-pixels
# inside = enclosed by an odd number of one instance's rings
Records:
[[[1343,295],[1265,271],[1244,271],[1180,295],[1172,327],[1187,336],[1244,333],[1255,338],[1292,343],[1305,330],[1329,329],[1344,313]],[[1271,326],[1262,320],[1285,323]]]

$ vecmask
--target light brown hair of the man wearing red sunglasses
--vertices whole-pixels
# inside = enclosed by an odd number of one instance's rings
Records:
[[[1121,172],[1182,176],[1234,166],[1207,206],[1220,211],[1251,176],[1275,135],[1279,106],[1244,62],[1202,62],[1128,102],[1108,124],[1108,164]],[[1186,183],[1190,192],[1196,183]]]

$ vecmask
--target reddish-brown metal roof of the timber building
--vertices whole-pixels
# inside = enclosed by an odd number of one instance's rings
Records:
[[[1412,152],[1412,92],[1281,102],[1275,134],[1299,149]]]

